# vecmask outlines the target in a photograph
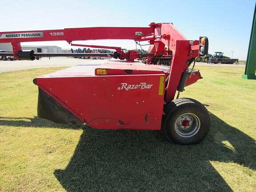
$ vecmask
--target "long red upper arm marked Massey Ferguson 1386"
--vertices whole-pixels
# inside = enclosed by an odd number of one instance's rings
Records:
[[[140,40],[141,35],[154,32],[154,28],[133,27],[95,27],[95,28],[65,28],[56,30],[36,30],[18,32],[0,32],[0,43],[57,41],[66,40],[107,40],[127,39]]]

